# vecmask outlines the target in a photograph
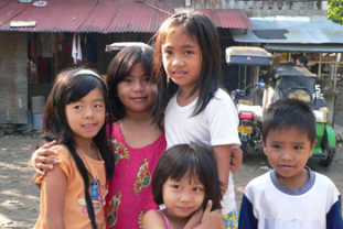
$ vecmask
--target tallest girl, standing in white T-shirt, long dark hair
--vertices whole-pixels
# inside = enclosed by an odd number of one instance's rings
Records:
[[[156,34],[153,76],[159,94],[152,109],[164,119],[167,149],[201,141],[212,146],[222,182],[222,214],[227,228],[237,215],[231,150],[240,144],[238,116],[221,88],[219,40],[211,20],[199,13],[172,15]]]

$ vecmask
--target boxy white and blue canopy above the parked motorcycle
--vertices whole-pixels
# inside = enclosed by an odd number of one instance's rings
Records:
[[[271,66],[272,63],[272,54],[261,47],[232,46],[225,54],[227,64]]]

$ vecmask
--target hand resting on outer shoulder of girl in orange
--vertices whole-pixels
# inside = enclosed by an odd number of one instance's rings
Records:
[[[56,164],[56,160],[47,157],[47,155],[56,155],[57,152],[53,150],[49,150],[51,146],[56,144],[56,141],[49,142],[44,145],[42,145],[40,149],[34,151],[32,154],[31,161],[32,165],[35,170],[36,176],[44,176],[45,171],[51,171],[54,168],[53,164]]]

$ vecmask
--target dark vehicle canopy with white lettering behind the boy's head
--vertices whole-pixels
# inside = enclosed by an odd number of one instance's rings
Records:
[[[325,107],[325,101],[317,84],[317,75],[301,66],[280,65],[274,68],[274,96],[271,100],[298,98],[307,101],[313,109]]]

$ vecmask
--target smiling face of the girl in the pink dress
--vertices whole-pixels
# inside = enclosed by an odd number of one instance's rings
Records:
[[[118,84],[118,97],[126,112],[151,110],[158,89],[142,63],[132,66],[129,75]]]

